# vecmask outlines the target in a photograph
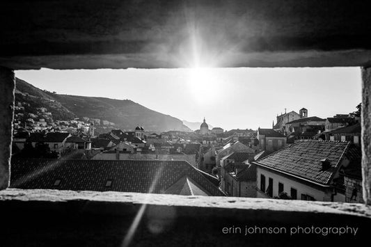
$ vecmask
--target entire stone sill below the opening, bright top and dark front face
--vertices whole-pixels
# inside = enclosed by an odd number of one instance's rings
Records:
[[[0,191],[1,246],[324,246],[368,239],[361,204],[92,191]],[[356,236],[223,234],[224,227],[358,227]]]

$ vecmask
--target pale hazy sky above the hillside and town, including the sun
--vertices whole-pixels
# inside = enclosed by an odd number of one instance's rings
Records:
[[[361,71],[336,68],[18,70],[60,94],[131,99],[180,120],[223,129],[271,127],[277,113],[305,107],[320,118],[356,111]]]

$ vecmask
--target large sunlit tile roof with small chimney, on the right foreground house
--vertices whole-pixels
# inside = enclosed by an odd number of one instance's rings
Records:
[[[253,163],[312,182],[329,185],[348,147],[347,142],[297,141]],[[322,159],[329,159],[331,162],[329,169],[322,170]]]

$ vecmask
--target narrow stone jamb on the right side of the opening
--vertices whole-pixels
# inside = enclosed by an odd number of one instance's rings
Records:
[[[362,178],[363,200],[371,205],[371,68],[362,68]]]

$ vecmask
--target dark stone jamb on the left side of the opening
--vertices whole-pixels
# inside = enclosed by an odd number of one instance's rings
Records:
[[[14,72],[0,67],[0,190],[8,188],[10,181],[14,90]]]

